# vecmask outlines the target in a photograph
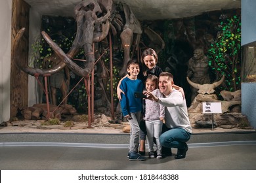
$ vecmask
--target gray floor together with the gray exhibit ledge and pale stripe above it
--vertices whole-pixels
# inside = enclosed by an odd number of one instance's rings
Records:
[[[185,159],[129,161],[129,135],[0,134],[1,170],[255,170],[256,133],[194,134]]]

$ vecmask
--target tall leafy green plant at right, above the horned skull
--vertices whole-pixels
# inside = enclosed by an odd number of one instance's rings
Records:
[[[218,78],[225,75],[220,90],[240,89],[241,21],[240,17],[226,18],[219,25],[219,33],[207,54],[209,65]]]

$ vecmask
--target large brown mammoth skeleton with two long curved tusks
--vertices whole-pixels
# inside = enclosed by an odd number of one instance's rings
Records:
[[[123,18],[125,20],[117,14],[120,7],[125,15],[125,18]],[[57,65],[50,69],[36,69],[18,62],[18,58],[14,58],[14,63],[16,63],[22,71],[33,76],[46,74],[52,75],[61,69],[64,69],[67,65],[68,68],[76,75],[87,77],[91,74],[95,66],[93,43],[100,42],[105,39],[111,29],[113,35],[116,35],[117,31],[121,31],[120,37],[124,49],[123,66],[126,66],[130,59],[129,52],[131,44],[133,43],[133,33],[137,34],[137,46],[139,45],[140,35],[142,33],[140,23],[137,18],[135,18],[131,8],[129,8],[125,3],[116,4],[111,0],[85,0],[76,5],[74,11],[75,20],[77,22],[77,33],[72,47],[67,54],[65,54],[64,51],[55,42],[53,42],[51,37],[49,37],[45,31],[41,32],[44,39],[61,59]],[[14,41],[14,52],[24,31],[24,28],[20,29],[16,36]],[[79,52],[80,48],[83,48],[85,52],[86,61],[83,62],[83,67],[80,67],[72,60]],[[119,75],[125,75],[125,72],[126,69],[123,67]]]

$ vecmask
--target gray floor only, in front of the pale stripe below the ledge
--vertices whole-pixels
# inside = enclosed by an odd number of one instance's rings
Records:
[[[126,148],[5,146],[0,148],[0,169],[255,170],[255,155],[256,144],[191,147],[185,159],[171,156],[146,161],[129,161]]]

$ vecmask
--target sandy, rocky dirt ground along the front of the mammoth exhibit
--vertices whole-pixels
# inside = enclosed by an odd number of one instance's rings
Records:
[[[95,120],[89,127],[88,122],[60,122],[60,124],[43,125],[45,120],[12,120],[0,125],[0,133],[129,133],[124,132],[124,127],[129,122],[115,122],[109,116],[96,114]],[[69,121],[70,122],[70,121]],[[205,127],[198,128],[192,123],[193,133],[218,133],[218,132],[239,132],[255,131],[255,129],[241,129],[237,127]]]

